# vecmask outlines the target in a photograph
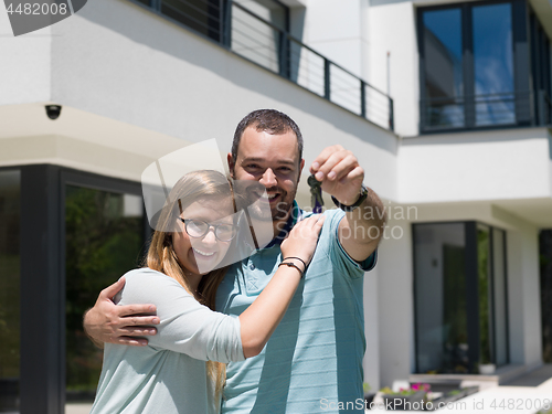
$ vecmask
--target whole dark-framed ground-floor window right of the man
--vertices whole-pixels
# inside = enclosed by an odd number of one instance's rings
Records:
[[[508,363],[505,232],[475,222],[414,225],[416,372]]]

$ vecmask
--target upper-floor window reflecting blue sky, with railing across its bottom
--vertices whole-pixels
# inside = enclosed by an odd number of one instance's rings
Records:
[[[529,12],[524,0],[418,10],[423,132],[549,124],[550,44],[534,15],[528,36]]]

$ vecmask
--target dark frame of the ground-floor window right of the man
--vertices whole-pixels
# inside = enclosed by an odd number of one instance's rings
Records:
[[[465,269],[466,269],[466,314],[467,314],[467,335],[468,335],[468,358],[469,358],[469,372],[475,372],[477,368],[477,363],[479,361],[480,352],[480,338],[479,338],[479,305],[478,305],[478,262],[477,262],[477,226],[484,225],[489,230],[489,257],[490,257],[490,291],[491,291],[491,301],[492,306],[490,308],[491,312],[491,328],[490,336],[492,342],[491,349],[491,361],[496,363],[497,355],[497,339],[496,339],[496,309],[495,309],[495,272],[493,272],[493,230],[499,230],[503,235],[503,269],[505,269],[505,308],[506,308],[506,338],[507,338],[507,347],[506,347],[506,362],[505,365],[511,362],[510,358],[510,315],[509,315],[509,296],[508,296],[508,232],[503,229],[496,227],[479,221],[435,221],[435,222],[416,222],[412,223],[412,268],[413,268],[413,284],[412,284],[412,296],[413,296],[413,305],[414,305],[414,372],[423,373],[418,371],[420,361],[418,361],[418,326],[417,326],[417,305],[418,298],[416,297],[416,240],[415,240],[415,227],[420,225],[439,225],[439,224],[463,224],[464,225],[464,243],[466,248],[465,256]]]

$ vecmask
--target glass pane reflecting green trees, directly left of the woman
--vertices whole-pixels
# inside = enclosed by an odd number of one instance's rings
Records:
[[[140,266],[142,246],[141,197],[65,184],[66,414],[89,411],[102,371],[103,351],[84,333],[83,314]]]

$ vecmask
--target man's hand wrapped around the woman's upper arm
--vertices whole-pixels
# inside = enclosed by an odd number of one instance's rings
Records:
[[[125,286],[125,277],[106,287],[98,296],[96,305],[84,315],[84,331],[99,348],[104,342],[145,347],[145,337],[157,333],[148,325],[159,323],[155,305],[117,306],[113,297]]]

